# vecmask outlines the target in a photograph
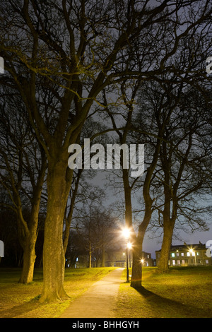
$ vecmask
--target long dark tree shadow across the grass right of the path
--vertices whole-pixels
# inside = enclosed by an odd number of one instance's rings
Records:
[[[135,288],[134,288],[135,289]],[[183,304],[175,300],[162,297],[160,295],[147,290],[145,287],[135,289],[147,301],[148,305],[152,307],[152,311],[161,318],[208,318],[211,317],[211,312],[203,312],[201,308],[194,307],[194,304]],[[186,292],[186,290],[185,290]]]

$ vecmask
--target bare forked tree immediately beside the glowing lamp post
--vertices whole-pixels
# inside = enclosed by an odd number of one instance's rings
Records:
[[[152,196],[151,182],[153,174],[158,165],[158,158],[160,157],[160,147],[163,143],[163,135],[167,123],[169,123],[172,117],[172,112],[179,101],[180,93],[182,91],[183,83],[179,84],[179,90],[176,94],[172,94],[168,97],[167,90],[160,90],[160,93],[156,93],[155,88],[158,83],[143,83],[134,85],[131,89],[131,97],[126,100],[126,93],[124,93],[124,85],[122,86],[123,105],[125,105],[127,111],[126,114],[122,114],[125,124],[124,129],[120,130],[116,124],[117,109],[109,109],[107,107],[107,113],[112,120],[112,126],[117,132],[119,137],[119,143],[143,143],[146,145],[147,155],[145,155],[146,170],[141,176],[132,178],[130,176],[130,170],[124,169],[122,162],[122,181],[124,187],[124,205],[125,205],[125,220],[126,227],[131,231],[131,242],[133,244],[133,266],[131,276],[131,286],[139,288],[142,281],[142,245],[143,238],[151,221],[151,215],[153,212],[153,202],[155,197]],[[129,88],[129,87],[128,87]],[[135,108],[135,97],[137,90],[140,91],[139,104],[141,107]],[[148,91],[148,92],[147,92]],[[129,97],[129,92],[127,93]],[[122,105],[122,108],[124,107]],[[153,107],[151,107],[151,105]],[[165,110],[164,110],[165,109]],[[120,114],[119,114],[120,115]],[[120,121],[120,120],[119,120]],[[155,123],[154,123],[155,122]],[[139,225],[134,225],[134,203],[132,202],[132,193],[135,190],[142,190],[143,196],[143,220]],[[136,230],[138,228],[138,230]]]

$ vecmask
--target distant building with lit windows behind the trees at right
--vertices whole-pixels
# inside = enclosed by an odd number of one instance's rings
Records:
[[[179,244],[171,245],[169,266],[210,266],[212,265],[211,256],[206,255],[206,244]],[[156,266],[160,262],[160,250],[155,251]]]

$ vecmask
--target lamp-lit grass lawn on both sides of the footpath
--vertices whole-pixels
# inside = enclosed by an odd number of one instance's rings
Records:
[[[33,283],[18,284],[20,270],[0,268],[0,318],[58,317],[71,301],[114,268],[66,269],[64,287],[69,300],[40,304],[42,269],[35,269]],[[212,266],[170,268],[160,274],[157,268],[143,268],[141,292],[125,283],[122,275],[117,298],[117,318],[211,318]]]

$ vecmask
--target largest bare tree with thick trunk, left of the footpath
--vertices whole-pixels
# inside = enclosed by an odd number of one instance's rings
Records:
[[[190,32],[196,37],[194,30],[211,16],[209,0],[149,4],[1,4],[0,47],[7,73],[1,83],[18,90],[48,160],[41,302],[65,294],[63,220],[73,174],[68,148],[78,140],[91,107],[100,103],[103,88],[129,78],[159,79],[168,71],[184,78],[180,66],[172,65],[182,37]]]

